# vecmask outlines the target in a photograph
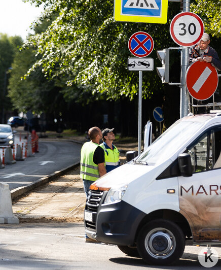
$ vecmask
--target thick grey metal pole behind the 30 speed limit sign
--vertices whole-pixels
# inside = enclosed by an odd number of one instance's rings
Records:
[[[190,0],[183,0],[183,11],[190,11]],[[181,85],[180,85],[180,118],[188,115],[189,94],[186,87],[186,72],[189,66],[189,48],[181,48]]]

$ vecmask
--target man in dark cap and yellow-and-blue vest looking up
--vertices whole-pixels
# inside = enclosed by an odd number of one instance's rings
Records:
[[[118,151],[117,147],[113,145],[113,141],[115,140],[114,131],[115,128],[105,128],[102,131],[103,143],[100,145],[100,147],[102,147],[104,150],[107,173],[120,166],[120,152]]]

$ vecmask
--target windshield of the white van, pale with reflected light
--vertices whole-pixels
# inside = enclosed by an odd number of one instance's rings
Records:
[[[173,155],[178,148],[188,141],[203,126],[203,122],[177,121],[169,127],[152,145],[150,145],[137,161],[145,161],[149,165],[161,163]]]

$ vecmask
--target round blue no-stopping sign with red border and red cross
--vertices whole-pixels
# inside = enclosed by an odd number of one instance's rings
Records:
[[[148,56],[154,49],[154,40],[146,32],[134,33],[128,41],[129,51],[137,57]]]

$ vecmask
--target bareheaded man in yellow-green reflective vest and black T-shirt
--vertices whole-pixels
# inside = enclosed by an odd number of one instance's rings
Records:
[[[99,177],[106,174],[104,151],[99,146],[102,133],[99,127],[94,126],[88,130],[90,142],[85,143],[81,149],[81,178],[84,183],[86,196],[93,184]]]

